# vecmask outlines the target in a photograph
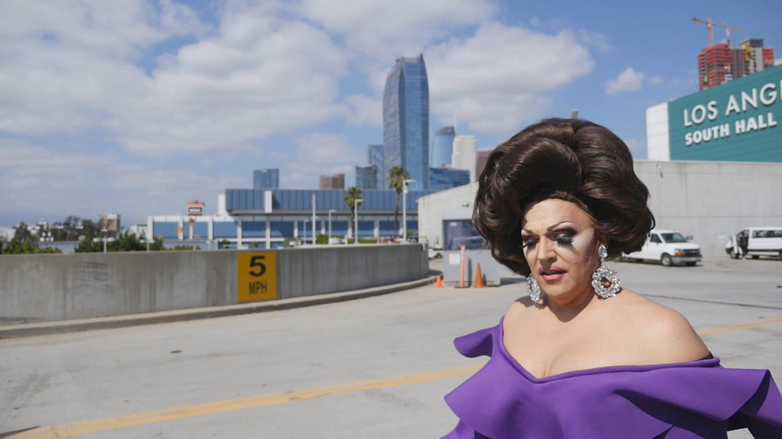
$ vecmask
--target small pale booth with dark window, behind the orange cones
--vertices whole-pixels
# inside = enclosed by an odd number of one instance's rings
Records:
[[[500,285],[500,262],[472,224],[472,209],[443,210],[443,282],[461,280],[461,245],[465,244],[465,285],[475,282],[478,265],[486,285]]]

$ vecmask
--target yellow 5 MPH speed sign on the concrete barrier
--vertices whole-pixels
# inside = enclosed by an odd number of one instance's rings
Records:
[[[236,254],[236,297],[239,302],[277,298],[277,253]]]

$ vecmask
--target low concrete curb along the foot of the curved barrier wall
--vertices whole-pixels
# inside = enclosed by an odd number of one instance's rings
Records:
[[[436,276],[401,284],[384,285],[382,287],[365,288],[363,290],[344,291],[341,293],[317,294],[297,298],[287,298],[266,302],[253,302],[242,305],[210,306],[207,308],[178,309],[175,311],[149,312],[131,314],[129,316],[96,317],[93,319],[60,320],[56,322],[21,323],[0,326],[0,338],[32,337],[36,335],[64,334],[84,330],[112,329],[149,325],[153,323],[181,322],[194,319],[210,319],[213,317],[239,316],[254,312],[277,311],[280,309],[300,308],[302,306],[322,305],[325,303],[344,302],[357,298],[368,298],[396,291],[409,290],[432,284]]]

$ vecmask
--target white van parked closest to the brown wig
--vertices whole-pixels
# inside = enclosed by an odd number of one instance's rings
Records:
[[[664,266],[684,264],[694,266],[701,261],[701,246],[687,241],[676,230],[653,229],[639,252],[626,255],[625,259],[660,261]]]

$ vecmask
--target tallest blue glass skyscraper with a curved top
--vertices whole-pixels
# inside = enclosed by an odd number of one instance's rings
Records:
[[[384,174],[393,166],[407,170],[412,190],[429,187],[429,81],[422,54],[397,59],[386,78],[383,161]]]

